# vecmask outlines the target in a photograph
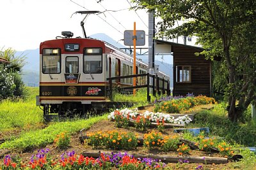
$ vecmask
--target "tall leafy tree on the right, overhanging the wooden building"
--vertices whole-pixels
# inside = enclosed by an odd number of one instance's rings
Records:
[[[256,1],[133,0],[136,9],[155,10],[159,35],[195,35],[208,59],[220,56],[227,70],[228,117],[237,122],[256,101]],[[175,25],[182,21],[182,24]],[[222,78],[225,79],[224,76]]]

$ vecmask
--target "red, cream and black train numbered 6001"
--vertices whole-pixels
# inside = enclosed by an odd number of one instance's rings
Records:
[[[132,74],[133,57],[109,43],[91,38],[65,37],[40,44],[40,94],[36,104],[44,106],[44,115],[76,110],[85,113],[93,101],[108,101],[107,78]],[[147,73],[148,66],[136,61],[136,73]],[[163,73],[160,77],[170,78]],[[138,83],[145,83],[141,78]],[[116,80],[131,86],[132,78]]]

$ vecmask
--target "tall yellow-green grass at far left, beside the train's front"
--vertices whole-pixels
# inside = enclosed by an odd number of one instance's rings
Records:
[[[27,87],[27,99],[4,100],[0,103],[0,132],[13,128],[34,126],[43,122],[43,112],[36,106],[35,96],[38,88]]]

